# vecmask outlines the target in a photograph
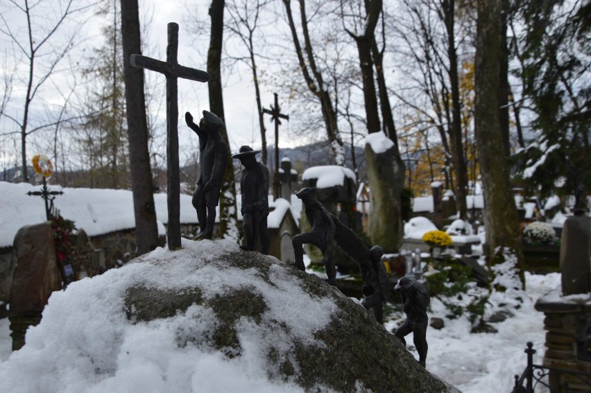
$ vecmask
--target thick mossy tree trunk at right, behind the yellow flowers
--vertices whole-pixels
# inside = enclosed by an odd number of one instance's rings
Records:
[[[488,263],[504,262],[503,247],[517,256],[522,282],[522,246],[517,208],[499,123],[499,59],[501,58],[501,0],[478,2],[474,75],[474,133],[480,157],[486,212]],[[497,248],[501,247],[501,248]]]

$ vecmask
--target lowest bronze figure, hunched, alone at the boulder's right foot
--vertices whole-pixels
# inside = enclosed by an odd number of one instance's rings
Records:
[[[396,330],[394,335],[400,338],[406,347],[404,336],[413,332],[413,342],[419,354],[419,363],[425,367],[427,349],[429,348],[427,345],[427,324],[429,322],[427,307],[431,302],[429,290],[422,283],[410,277],[402,277],[394,290],[400,291],[402,302],[404,302],[402,309],[406,313],[406,321]]]

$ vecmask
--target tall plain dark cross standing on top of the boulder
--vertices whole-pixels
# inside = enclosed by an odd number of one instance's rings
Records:
[[[207,82],[205,71],[178,64],[178,24],[168,24],[166,62],[131,55],[133,67],[164,73],[166,76],[166,192],[169,210],[169,250],[180,248],[180,175],[178,169],[178,78]]]

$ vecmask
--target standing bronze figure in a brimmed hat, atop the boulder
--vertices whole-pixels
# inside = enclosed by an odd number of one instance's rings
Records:
[[[257,161],[255,155],[259,150],[252,150],[250,146],[242,146],[238,154],[232,156],[239,159],[244,166],[240,177],[240,191],[242,194],[242,222],[246,245],[240,248],[246,251],[257,250],[257,243],[261,241],[261,253],[269,252],[269,232],[267,217],[269,215],[269,171],[265,164]]]

